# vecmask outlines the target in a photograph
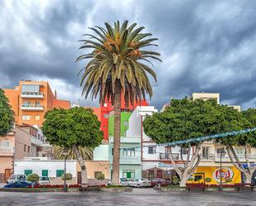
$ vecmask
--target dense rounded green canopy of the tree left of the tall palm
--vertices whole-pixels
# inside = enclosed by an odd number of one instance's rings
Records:
[[[42,131],[52,145],[94,148],[103,140],[100,122],[90,108],[54,108],[46,113]]]

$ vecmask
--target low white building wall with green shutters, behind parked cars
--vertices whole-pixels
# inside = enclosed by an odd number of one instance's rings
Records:
[[[56,177],[56,170],[64,170],[64,160],[14,160],[14,174],[24,174],[25,170],[32,170],[41,176],[42,170],[48,170],[49,177]],[[76,177],[76,160],[66,160],[66,173]]]

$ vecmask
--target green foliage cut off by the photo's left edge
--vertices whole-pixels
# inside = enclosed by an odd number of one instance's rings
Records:
[[[4,91],[0,89],[0,137],[11,132],[14,124],[14,113],[5,96]]]

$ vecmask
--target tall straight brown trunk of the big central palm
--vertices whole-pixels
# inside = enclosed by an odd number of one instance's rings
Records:
[[[113,184],[119,184],[120,161],[120,133],[121,133],[121,85],[116,80],[114,84],[114,154],[113,154]]]

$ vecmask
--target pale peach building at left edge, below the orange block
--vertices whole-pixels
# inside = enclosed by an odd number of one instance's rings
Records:
[[[40,129],[16,125],[12,132],[0,138],[0,182],[13,174],[13,161],[28,156],[49,156],[42,150],[49,146]]]

